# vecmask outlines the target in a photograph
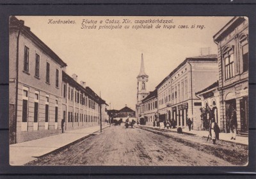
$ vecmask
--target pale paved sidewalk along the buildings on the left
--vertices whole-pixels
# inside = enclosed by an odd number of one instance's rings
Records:
[[[109,125],[102,125],[102,128]],[[10,144],[10,165],[20,166],[100,130],[100,126],[66,130],[63,134]]]

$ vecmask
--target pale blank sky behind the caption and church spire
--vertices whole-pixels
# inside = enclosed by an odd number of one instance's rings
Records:
[[[214,36],[232,17],[90,17],[90,16],[17,16],[25,26],[52,49],[65,63],[67,74],[77,74],[78,82],[100,95],[111,109],[127,105],[135,110],[137,79],[141,53],[148,77],[148,91],[153,91],[164,77],[184,59],[200,55],[200,48],[210,47],[217,54]],[[51,20],[52,19],[52,20]],[[122,24],[123,19],[131,20]],[[154,23],[152,29],[135,29],[139,20],[170,20]],[[52,23],[74,20],[75,24]],[[88,20],[90,23],[84,23]],[[93,20],[93,21],[91,21]],[[96,29],[88,29],[93,26]],[[102,24],[100,24],[102,20]],[[120,20],[117,24],[106,23]],[[136,21],[138,20],[138,21]],[[51,21],[51,23],[49,23]],[[83,26],[82,26],[83,23]],[[156,28],[159,24],[159,28]],[[87,28],[84,28],[86,25]],[[121,29],[99,29],[99,26]],[[150,24],[143,23],[142,26]],[[124,26],[129,26],[125,29]],[[173,28],[173,26],[175,26]],[[188,28],[180,28],[188,26]],[[195,28],[191,28],[195,26]],[[204,26],[204,28],[201,28]]]

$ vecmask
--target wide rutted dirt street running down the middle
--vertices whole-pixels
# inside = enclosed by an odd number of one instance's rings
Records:
[[[206,143],[203,137],[111,126],[27,165],[234,166],[245,165],[248,149]],[[233,145],[233,146],[232,146]]]

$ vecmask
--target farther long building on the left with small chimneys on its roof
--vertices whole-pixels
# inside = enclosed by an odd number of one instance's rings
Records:
[[[62,118],[65,120],[65,130],[99,125],[100,113],[104,114],[106,102],[85,86],[85,82],[79,84],[76,74],[70,77],[62,72],[62,76]]]

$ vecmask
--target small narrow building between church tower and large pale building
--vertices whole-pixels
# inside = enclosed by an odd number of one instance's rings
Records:
[[[149,95],[141,101],[141,106],[144,108],[144,121],[141,123],[153,125],[154,120],[157,120],[157,89],[150,91]]]

